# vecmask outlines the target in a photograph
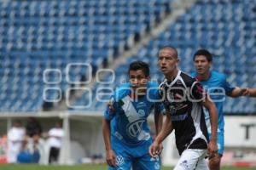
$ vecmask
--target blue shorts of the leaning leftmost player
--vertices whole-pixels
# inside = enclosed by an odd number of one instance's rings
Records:
[[[116,167],[109,170],[160,170],[160,159],[148,154],[150,143],[129,147],[125,144],[112,144],[116,156]]]

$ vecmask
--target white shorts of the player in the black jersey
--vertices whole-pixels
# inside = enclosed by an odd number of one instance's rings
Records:
[[[207,150],[184,150],[174,170],[208,170]]]

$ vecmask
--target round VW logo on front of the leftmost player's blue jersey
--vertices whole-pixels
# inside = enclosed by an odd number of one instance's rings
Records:
[[[126,131],[131,138],[136,138],[142,132],[143,122],[145,122],[145,120],[139,119],[136,122],[131,122],[127,125]]]

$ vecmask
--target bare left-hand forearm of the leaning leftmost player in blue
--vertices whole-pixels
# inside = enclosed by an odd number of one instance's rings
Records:
[[[102,133],[103,133],[103,139],[105,143],[105,149],[106,149],[106,161],[109,166],[115,167],[115,154],[111,147],[110,142],[110,120],[107,120],[105,118],[102,119]]]

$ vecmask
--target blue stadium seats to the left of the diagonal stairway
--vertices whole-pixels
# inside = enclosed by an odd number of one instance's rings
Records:
[[[40,111],[45,69],[90,63],[95,72],[108,65],[135,37],[150,31],[171,11],[169,0],[1,1],[0,111]],[[73,81],[82,69],[71,73]],[[49,77],[55,80],[56,77]],[[58,95],[49,96],[56,99]]]

